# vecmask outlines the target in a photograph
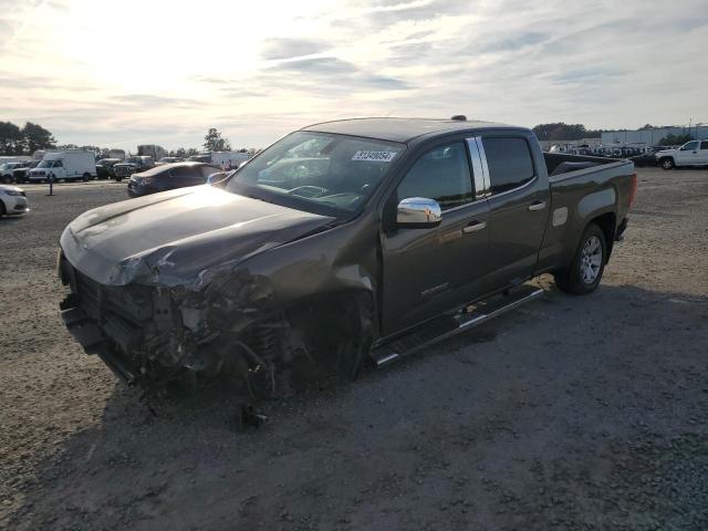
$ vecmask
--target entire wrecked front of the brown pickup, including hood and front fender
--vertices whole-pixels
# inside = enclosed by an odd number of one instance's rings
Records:
[[[147,388],[235,375],[280,395],[303,366],[332,368],[320,352],[355,374],[374,322],[365,235],[219,190],[156,196],[62,233],[62,317],[87,353]]]

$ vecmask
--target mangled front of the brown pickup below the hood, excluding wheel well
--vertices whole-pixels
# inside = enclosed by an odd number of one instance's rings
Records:
[[[61,303],[66,327],[128,384],[155,387],[190,374],[259,372],[274,383],[275,365],[308,351],[287,315],[270,319],[259,311],[268,302],[268,283],[243,272],[204,291],[102,285],[62,253],[60,275],[71,288]]]

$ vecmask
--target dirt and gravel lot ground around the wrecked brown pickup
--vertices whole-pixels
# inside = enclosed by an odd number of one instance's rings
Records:
[[[639,170],[600,290],[348,385],[157,416],[61,324],[63,227],[125,184],[27,186],[0,220],[0,528],[708,529],[708,170]]]

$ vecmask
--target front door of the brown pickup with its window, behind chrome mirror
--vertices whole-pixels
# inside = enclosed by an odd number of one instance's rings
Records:
[[[435,199],[442,221],[435,228],[392,226],[383,232],[385,335],[464,304],[487,269],[489,207],[475,199],[467,149],[459,140],[427,150],[387,201],[386,208],[395,210],[405,198]]]

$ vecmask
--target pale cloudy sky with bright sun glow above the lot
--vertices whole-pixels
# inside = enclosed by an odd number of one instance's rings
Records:
[[[706,0],[0,0],[0,121],[126,150],[360,116],[708,123],[706,50]]]

